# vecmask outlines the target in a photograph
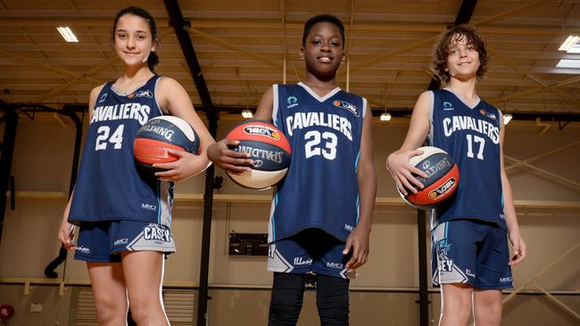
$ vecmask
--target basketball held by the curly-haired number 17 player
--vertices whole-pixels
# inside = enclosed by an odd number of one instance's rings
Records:
[[[452,157],[440,148],[425,146],[419,150],[423,154],[412,157],[409,163],[428,175],[427,179],[415,176],[424,188],[417,193],[410,192],[407,196],[403,196],[401,191],[399,194],[414,208],[435,208],[457,191],[460,170]]]

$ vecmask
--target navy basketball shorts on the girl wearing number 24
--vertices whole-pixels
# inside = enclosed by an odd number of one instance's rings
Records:
[[[75,259],[87,262],[120,262],[120,251],[175,252],[169,226],[136,221],[83,222]]]

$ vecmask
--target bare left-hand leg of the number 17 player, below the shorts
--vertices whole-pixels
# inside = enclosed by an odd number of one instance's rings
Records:
[[[473,288],[468,284],[443,284],[439,326],[467,325],[471,318],[472,293]]]

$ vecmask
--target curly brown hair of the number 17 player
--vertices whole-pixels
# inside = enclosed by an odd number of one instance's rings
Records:
[[[431,71],[435,74],[443,84],[449,84],[449,71],[445,71],[447,68],[447,57],[449,56],[449,48],[452,43],[453,37],[459,35],[459,40],[465,38],[468,45],[472,45],[476,48],[477,53],[479,53],[479,61],[481,65],[477,69],[477,80],[480,80],[485,76],[487,72],[487,62],[490,59],[489,53],[485,50],[485,38],[477,33],[476,29],[467,24],[453,26],[451,29],[447,29],[439,41],[436,43],[433,55],[431,57]]]

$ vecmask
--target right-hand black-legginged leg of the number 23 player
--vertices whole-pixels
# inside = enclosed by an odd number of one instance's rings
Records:
[[[322,326],[349,324],[349,280],[319,275],[316,289],[316,306]]]

